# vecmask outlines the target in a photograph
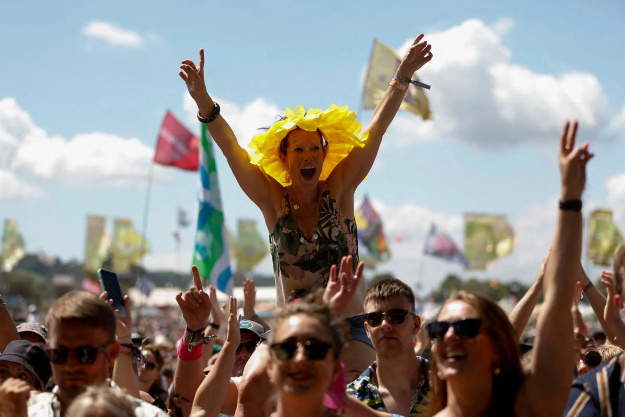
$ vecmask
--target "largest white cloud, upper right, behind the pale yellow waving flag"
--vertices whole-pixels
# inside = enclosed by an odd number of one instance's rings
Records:
[[[512,64],[512,52],[502,44],[512,26],[509,19],[493,26],[471,19],[426,35],[434,59],[418,74],[432,86],[427,95],[434,120],[397,116],[392,129],[403,143],[437,138],[489,147],[552,143],[567,118],[578,118],[586,137],[598,136],[607,125],[607,98],[596,76],[554,76]]]

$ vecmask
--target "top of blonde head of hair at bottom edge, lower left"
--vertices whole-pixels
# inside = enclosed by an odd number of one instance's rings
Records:
[[[136,417],[133,403],[120,389],[90,386],[69,406],[66,417],[83,417],[89,409],[109,411],[117,417]]]

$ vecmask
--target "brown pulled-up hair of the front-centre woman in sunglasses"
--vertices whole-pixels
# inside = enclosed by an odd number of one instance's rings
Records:
[[[332,316],[329,306],[322,301],[323,289],[319,289],[309,294],[304,299],[297,299],[296,303],[285,304],[276,312],[272,331],[269,333],[269,344],[274,343],[276,338],[276,330],[289,317],[296,314],[306,314],[321,322],[327,328],[332,337],[332,350],[334,358],[338,359],[345,343],[344,339],[344,321],[335,319]]]

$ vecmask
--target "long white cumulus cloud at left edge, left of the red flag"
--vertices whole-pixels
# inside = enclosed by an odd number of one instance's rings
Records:
[[[133,184],[146,181],[153,148],[137,138],[124,139],[108,133],[84,133],[71,139],[51,136],[21,109],[13,98],[0,99],[0,172],[7,184],[15,181],[57,181],[73,184]],[[154,170],[155,178],[167,174]],[[4,181],[3,181],[4,182]],[[0,198],[6,199],[6,185]],[[22,196],[36,194],[23,188]]]

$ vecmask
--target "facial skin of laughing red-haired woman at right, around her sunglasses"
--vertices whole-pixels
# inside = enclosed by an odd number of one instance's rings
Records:
[[[477,311],[464,301],[452,301],[446,304],[439,313],[439,321],[459,321],[464,318],[479,318]],[[457,336],[453,326],[449,326],[442,341],[432,346],[436,355],[438,371],[441,378],[451,381],[483,381],[492,380],[494,364],[501,362],[495,352],[495,346],[483,329],[473,339]],[[450,356],[458,357],[450,357]]]

